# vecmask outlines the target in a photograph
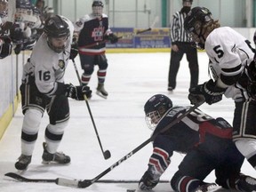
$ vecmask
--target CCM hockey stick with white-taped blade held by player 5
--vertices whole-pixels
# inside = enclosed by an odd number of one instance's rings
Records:
[[[167,131],[174,124],[178,124],[182,118],[184,118],[185,116],[188,116],[189,113],[194,111],[196,108],[201,106],[203,103],[204,103],[204,101],[197,103],[192,108],[189,108],[188,111],[186,111],[181,116],[177,117],[174,121],[172,121],[171,124],[168,124],[167,126],[165,126],[163,130],[161,130],[160,132],[155,132],[148,140],[145,140],[143,143],[140,144],[140,146],[138,146],[137,148],[134,148],[130,153],[128,153],[126,156],[122,157],[115,164],[112,164],[110,167],[108,167],[108,169],[106,169],[104,172],[101,172],[98,176],[96,176],[92,180],[70,180],[70,179],[65,179],[65,178],[57,178],[56,180],[54,180],[54,182],[60,186],[67,186],[67,187],[73,187],[73,188],[87,188],[87,187],[91,186],[94,182],[97,182],[98,180],[100,180],[101,177],[106,175],[108,172],[111,172],[114,168],[116,168],[116,166],[118,166],[119,164],[122,164],[125,160],[130,158],[132,155],[134,155],[136,152],[138,152],[141,148],[144,148],[146,145],[148,145],[149,142],[151,142],[152,140],[155,140],[156,136],[159,133]]]

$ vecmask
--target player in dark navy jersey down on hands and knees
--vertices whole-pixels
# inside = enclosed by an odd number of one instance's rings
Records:
[[[232,127],[219,117],[204,114],[199,109],[184,117],[166,132],[164,127],[182,115],[188,107],[173,107],[172,100],[156,94],[145,104],[146,122],[149,128],[160,132],[153,141],[153,154],[148,170],[140,179],[140,190],[156,187],[161,175],[171,164],[173,152],[187,153],[172,177],[171,186],[178,192],[206,192],[217,188],[234,188],[238,191],[256,190],[256,180],[240,172],[244,156],[232,141]],[[215,171],[216,183],[204,179]]]

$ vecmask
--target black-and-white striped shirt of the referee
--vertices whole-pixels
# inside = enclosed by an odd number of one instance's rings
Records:
[[[192,42],[191,37],[188,36],[188,33],[185,31],[183,23],[187,14],[185,12],[175,12],[173,14],[170,38],[172,44],[176,42]]]

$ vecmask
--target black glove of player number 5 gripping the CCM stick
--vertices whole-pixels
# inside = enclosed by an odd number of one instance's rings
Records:
[[[204,84],[198,84],[196,87],[189,89],[188,100],[191,104],[203,102],[212,105],[212,103],[222,100],[222,94],[226,91],[224,88],[217,87],[216,84],[210,79]]]

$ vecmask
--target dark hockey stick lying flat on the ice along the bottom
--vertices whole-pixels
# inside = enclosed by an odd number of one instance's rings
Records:
[[[21,182],[37,182],[37,183],[56,183],[57,179],[29,179],[21,176],[15,172],[7,172],[4,174],[6,177],[10,177],[14,180],[20,180]],[[97,183],[139,183],[140,180],[97,180]],[[159,183],[167,183],[168,180],[159,180]]]

